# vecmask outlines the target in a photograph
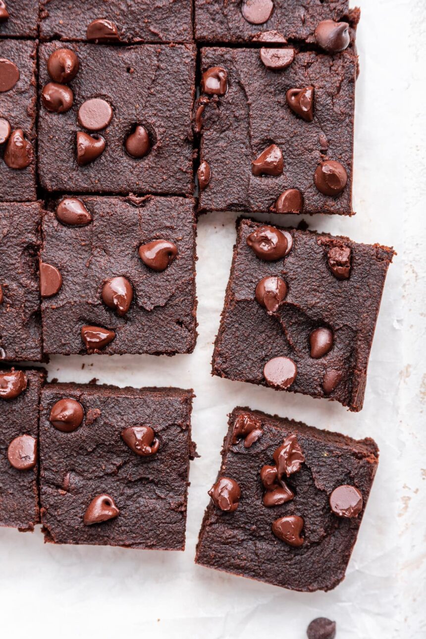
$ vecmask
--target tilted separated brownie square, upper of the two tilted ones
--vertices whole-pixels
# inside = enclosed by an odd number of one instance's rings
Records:
[[[393,254],[240,220],[213,374],[361,410]]]

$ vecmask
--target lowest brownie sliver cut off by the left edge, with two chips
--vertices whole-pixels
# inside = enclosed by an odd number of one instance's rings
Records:
[[[41,369],[0,367],[0,526],[33,530],[38,505]]]

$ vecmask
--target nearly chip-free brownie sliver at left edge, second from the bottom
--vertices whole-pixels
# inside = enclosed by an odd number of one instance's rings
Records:
[[[0,360],[42,359],[40,204],[0,202]]]

